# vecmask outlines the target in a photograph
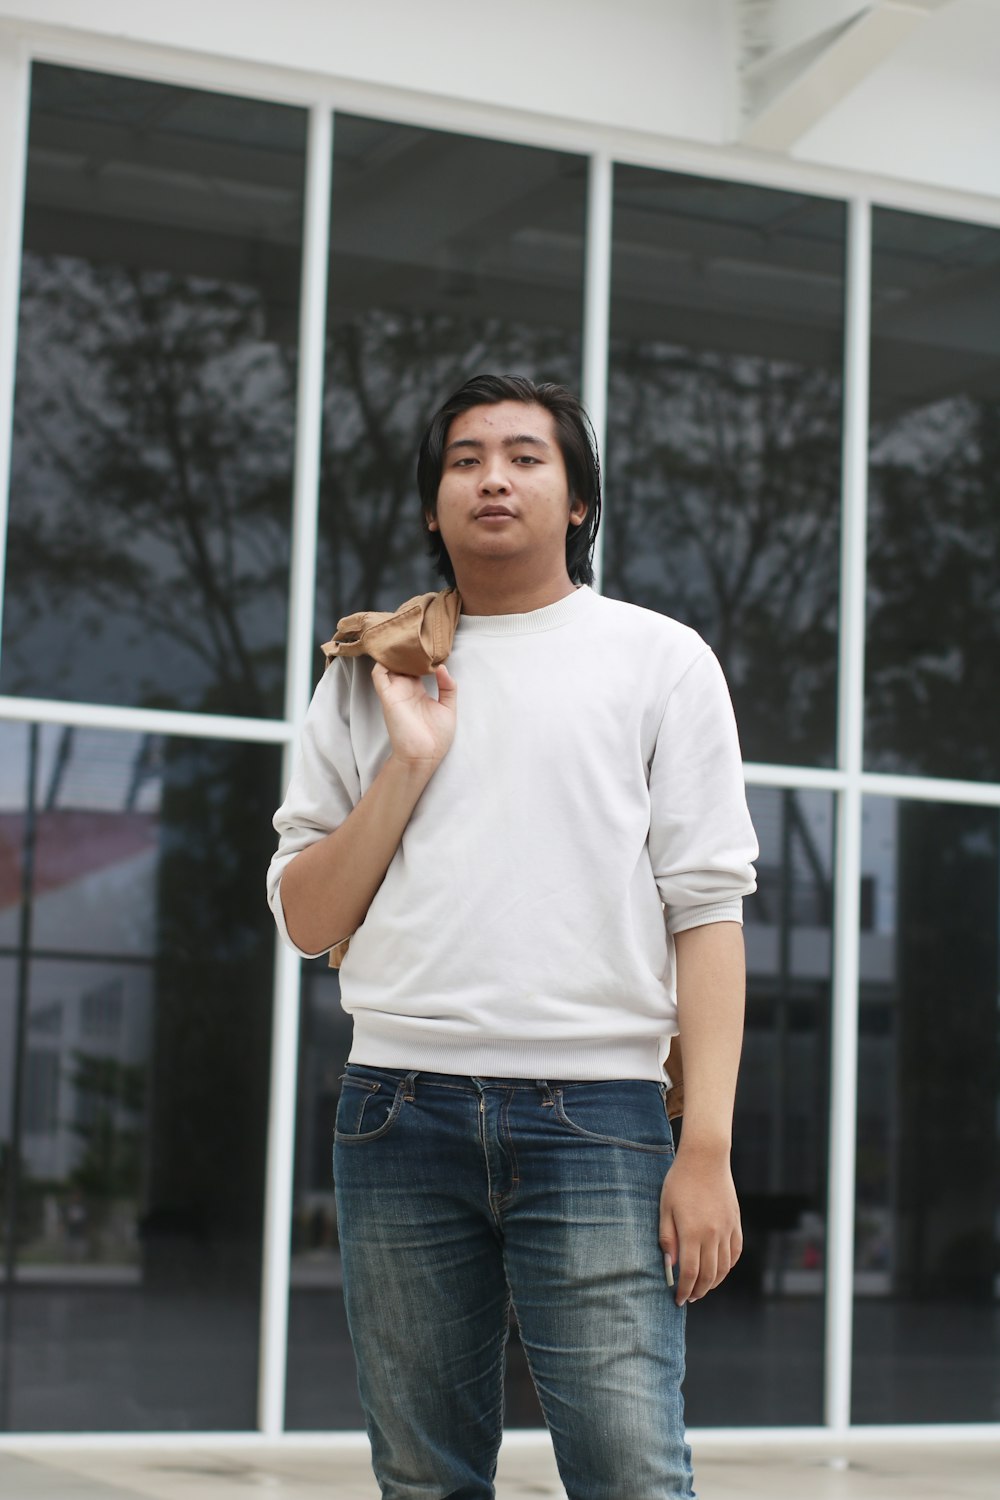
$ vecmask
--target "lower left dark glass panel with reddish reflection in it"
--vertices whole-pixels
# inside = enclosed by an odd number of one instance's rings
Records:
[[[0,724],[0,1425],[252,1428],[280,752]]]

